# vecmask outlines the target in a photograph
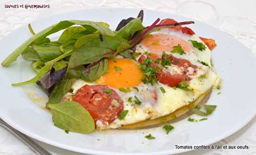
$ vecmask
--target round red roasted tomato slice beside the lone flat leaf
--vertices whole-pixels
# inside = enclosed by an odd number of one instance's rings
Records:
[[[86,108],[95,122],[100,120],[103,124],[110,124],[123,111],[120,96],[105,85],[84,85],[72,99]]]

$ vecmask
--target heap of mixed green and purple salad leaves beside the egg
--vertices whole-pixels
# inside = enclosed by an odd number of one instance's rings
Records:
[[[151,26],[144,27],[142,20],[143,10],[137,18],[122,19],[115,31],[108,23],[86,20],[60,21],[38,33],[29,24],[33,36],[18,46],[2,65],[11,65],[20,55],[30,60],[37,74],[28,81],[12,85],[37,84],[42,87],[49,95],[46,108],[51,110],[54,125],[65,131],[89,133],[95,129],[89,112],[77,102],[61,102],[76,79],[97,80],[108,71],[108,59],[117,55],[132,59],[134,45],[147,34],[170,25],[194,23],[157,24],[158,18]],[[57,41],[48,38],[60,30],[64,31]]]

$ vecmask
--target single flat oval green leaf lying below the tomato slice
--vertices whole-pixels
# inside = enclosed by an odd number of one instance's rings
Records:
[[[90,113],[74,101],[49,104],[54,125],[70,132],[90,133],[95,130],[95,124]]]

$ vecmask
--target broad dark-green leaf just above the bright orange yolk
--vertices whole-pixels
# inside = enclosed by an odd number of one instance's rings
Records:
[[[120,37],[112,37],[103,35],[97,38],[91,38],[81,45],[79,49],[74,51],[74,54],[69,59],[69,68],[74,68],[79,65],[90,64],[104,57],[112,57],[116,54],[117,47],[127,42]]]

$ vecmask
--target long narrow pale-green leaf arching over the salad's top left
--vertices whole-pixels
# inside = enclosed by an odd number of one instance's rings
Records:
[[[34,36],[30,37],[23,44],[19,45],[1,64],[3,66],[9,66],[12,62],[16,61],[18,56],[23,53],[23,51],[31,44],[39,45],[46,41],[46,37],[58,32],[60,30],[66,29],[74,24],[83,25],[86,29],[98,30],[101,34],[114,36],[109,28],[106,28],[105,25],[102,25],[101,22],[94,21],[84,21],[84,20],[63,20],[57,24],[51,25],[50,27],[38,32]],[[50,42],[50,40],[49,40]]]

